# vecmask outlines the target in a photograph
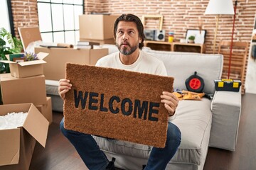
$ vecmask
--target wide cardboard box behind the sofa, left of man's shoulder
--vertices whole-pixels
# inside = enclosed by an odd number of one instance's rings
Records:
[[[35,47],[35,52],[46,52],[46,64],[43,64],[43,74],[46,79],[60,80],[65,78],[67,62],[74,64],[95,65],[97,60],[108,55],[107,49],[72,49]]]

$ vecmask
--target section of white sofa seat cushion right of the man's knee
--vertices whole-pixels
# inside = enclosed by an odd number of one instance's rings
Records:
[[[181,145],[171,162],[203,164],[208,152],[212,123],[211,101],[180,101],[173,123],[181,130]]]

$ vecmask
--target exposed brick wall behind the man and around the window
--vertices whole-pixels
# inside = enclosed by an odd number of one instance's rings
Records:
[[[36,0],[12,0],[11,3],[17,37],[19,26],[38,26]],[[233,4],[235,4],[235,0],[233,0]],[[134,13],[140,18],[142,15],[163,15],[163,29],[166,30],[166,37],[169,31],[174,31],[176,40],[185,38],[187,29],[198,29],[198,19],[200,18],[203,22],[203,29],[207,31],[206,53],[212,53],[216,17],[204,15],[207,5],[208,0],[85,0],[85,14],[91,12],[117,15]],[[255,14],[256,0],[238,1],[234,41],[251,42]],[[157,28],[157,26],[157,21],[147,21],[145,28]],[[220,40],[231,40],[232,28],[233,16],[220,16],[215,51],[217,51]],[[247,61],[245,73],[246,68]]]

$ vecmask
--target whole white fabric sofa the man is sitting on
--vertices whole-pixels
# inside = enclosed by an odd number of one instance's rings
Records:
[[[109,48],[110,52],[116,50],[112,45],[103,47]],[[164,62],[168,75],[175,78],[174,88],[186,90],[186,79],[196,71],[205,82],[203,92],[214,94],[212,100],[202,98],[201,101],[179,102],[173,123],[181,130],[181,145],[166,169],[203,169],[209,146],[234,151],[241,93],[215,91],[213,80],[221,77],[223,55],[144,50]],[[63,103],[58,93],[50,91],[56,89],[55,85],[48,82],[47,93],[53,97],[53,110],[62,111]],[[109,159],[116,158],[115,166],[122,169],[142,169],[151,152],[151,146],[102,137],[95,137],[95,140]]]

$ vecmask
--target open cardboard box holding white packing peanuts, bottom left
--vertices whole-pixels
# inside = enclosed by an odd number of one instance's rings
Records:
[[[48,120],[32,103],[1,105],[0,115],[28,112],[22,127],[0,130],[0,169],[28,170],[36,141],[46,147]]]

